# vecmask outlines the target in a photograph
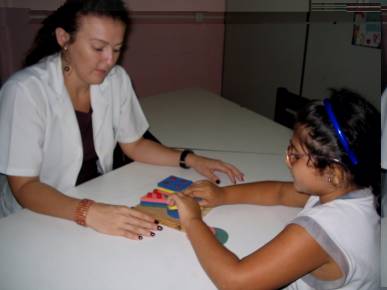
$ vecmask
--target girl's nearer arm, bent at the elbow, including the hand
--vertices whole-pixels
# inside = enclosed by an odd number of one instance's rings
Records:
[[[194,199],[177,194],[173,200],[199,262],[219,289],[277,289],[330,262],[319,244],[294,224],[239,259],[216,240]]]

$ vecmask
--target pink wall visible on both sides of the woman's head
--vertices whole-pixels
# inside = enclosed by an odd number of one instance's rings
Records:
[[[133,12],[132,19],[123,66],[139,97],[187,87],[220,93],[223,12]],[[0,8],[0,40],[8,44],[0,56],[1,80],[20,67],[38,27],[27,9]]]

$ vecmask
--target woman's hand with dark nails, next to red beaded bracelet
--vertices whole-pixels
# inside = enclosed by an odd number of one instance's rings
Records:
[[[127,206],[94,203],[86,217],[87,226],[113,236],[141,240],[143,236],[154,236],[162,227],[154,218]]]

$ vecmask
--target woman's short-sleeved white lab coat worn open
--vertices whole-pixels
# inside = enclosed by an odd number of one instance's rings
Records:
[[[42,182],[66,192],[77,180],[83,149],[61,68],[59,54],[49,56],[13,75],[1,89],[0,173],[39,176]],[[120,66],[102,84],[91,86],[91,106],[99,169],[106,173],[112,169],[117,141],[138,140],[148,122]],[[0,216],[16,206],[7,183],[1,183]]]

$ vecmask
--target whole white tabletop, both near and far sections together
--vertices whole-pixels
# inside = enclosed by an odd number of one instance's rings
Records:
[[[290,130],[203,90],[149,97],[142,103],[151,131],[164,144],[231,162],[247,182],[290,179],[283,163]],[[192,170],[132,163],[68,194],[135,205],[171,174],[200,179]],[[221,180],[228,183],[225,176]],[[205,221],[226,230],[226,246],[242,257],[272,239],[298,211],[224,206],[210,211]],[[0,219],[0,261],[0,289],[215,289],[184,233],[168,228],[154,238],[131,241],[22,210]]]

